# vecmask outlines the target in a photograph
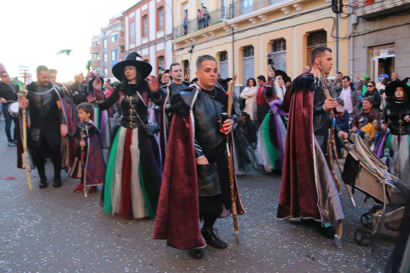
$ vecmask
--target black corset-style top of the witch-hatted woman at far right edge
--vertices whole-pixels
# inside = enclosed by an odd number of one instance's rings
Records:
[[[387,110],[390,121],[387,131],[392,135],[410,135],[410,122],[404,120],[407,115],[410,115],[410,106],[395,102],[394,110]]]

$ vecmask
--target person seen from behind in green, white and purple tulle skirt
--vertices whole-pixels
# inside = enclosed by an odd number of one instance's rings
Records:
[[[258,162],[266,172],[281,171],[285,153],[287,115],[282,111],[282,101],[277,97],[273,87],[266,85],[265,88],[270,110],[258,130]]]

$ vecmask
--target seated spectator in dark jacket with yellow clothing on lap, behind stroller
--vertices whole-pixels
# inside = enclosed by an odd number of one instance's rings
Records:
[[[349,139],[354,142],[356,133],[359,133],[367,146],[370,147],[376,131],[380,128],[375,120],[379,119],[380,113],[373,107],[373,100],[368,97],[362,99],[363,109],[356,112],[351,122],[351,133]],[[370,124],[369,124],[370,123]]]

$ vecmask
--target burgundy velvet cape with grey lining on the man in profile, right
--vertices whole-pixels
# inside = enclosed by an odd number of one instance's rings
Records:
[[[292,84],[303,84],[305,72]],[[310,82],[311,85],[311,82]],[[336,183],[313,134],[313,92],[287,88],[282,110],[289,113],[285,158],[277,219],[315,219],[331,222],[344,218]],[[314,147],[315,146],[315,147]]]

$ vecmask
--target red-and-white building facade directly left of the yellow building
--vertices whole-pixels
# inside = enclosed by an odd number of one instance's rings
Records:
[[[125,52],[142,56],[153,66],[169,68],[172,54],[172,0],[142,0],[123,13]]]

